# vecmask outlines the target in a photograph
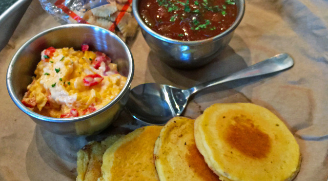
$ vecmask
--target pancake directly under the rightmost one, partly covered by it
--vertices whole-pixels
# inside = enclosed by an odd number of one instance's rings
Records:
[[[220,181],[196,147],[194,121],[174,117],[161,130],[154,148],[161,181]]]

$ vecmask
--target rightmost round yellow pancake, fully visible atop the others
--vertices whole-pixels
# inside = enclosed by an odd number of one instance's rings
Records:
[[[291,181],[299,145],[272,112],[250,103],[214,104],[195,121],[195,142],[223,181]]]

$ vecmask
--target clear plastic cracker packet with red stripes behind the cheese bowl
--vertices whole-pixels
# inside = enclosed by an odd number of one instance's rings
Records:
[[[123,41],[134,37],[138,23],[132,0],[40,0],[49,14],[67,23],[88,23],[108,29]]]

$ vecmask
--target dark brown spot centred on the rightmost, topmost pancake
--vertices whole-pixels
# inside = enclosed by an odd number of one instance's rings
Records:
[[[235,124],[227,128],[226,141],[251,158],[265,158],[271,147],[269,136],[254,126],[245,115],[232,118]]]

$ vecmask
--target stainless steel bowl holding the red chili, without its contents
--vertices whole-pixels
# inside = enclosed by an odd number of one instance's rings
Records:
[[[212,61],[229,43],[245,12],[245,0],[236,0],[238,12],[236,21],[225,32],[204,40],[180,41],[151,30],[140,17],[138,10],[140,1],[142,0],[133,0],[132,10],[150,49],[167,65],[182,69],[198,68]]]

